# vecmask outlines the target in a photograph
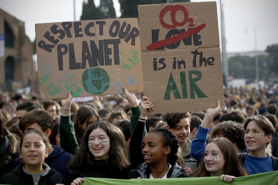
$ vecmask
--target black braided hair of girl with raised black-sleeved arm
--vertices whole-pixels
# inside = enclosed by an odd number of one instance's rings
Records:
[[[178,160],[178,149],[179,149],[179,141],[176,138],[175,134],[171,132],[168,129],[164,128],[158,128],[151,130],[150,132],[157,132],[162,135],[162,138],[164,138],[164,147],[169,146],[171,148],[170,153],[168,154],[167,162],[169,162],[171,165],[175,163]]]

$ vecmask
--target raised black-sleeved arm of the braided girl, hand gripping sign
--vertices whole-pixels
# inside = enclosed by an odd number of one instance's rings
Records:
[[[141,102],[140,119],[135,125],[129,143],[130,162],[132,164],[132,168],[136,168],[139,164],[144,162],[144,158],[142,156],[142,143],[144,140],[144,129],[146,128],[144,119],[147,117],[147,109],[150,112],[154,110],[153,104],[149,101],[149,98],[144,96]]]

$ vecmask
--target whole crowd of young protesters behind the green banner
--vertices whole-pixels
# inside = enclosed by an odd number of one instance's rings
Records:
[[[0,92],[0,184],[233,178],[278,170],[278,88],[226,88],[225,108],[147,114],[142,93],[40,100]],[[140,103],[140,104],[139,104]],[[165,108],[167,112],[167,108]]]

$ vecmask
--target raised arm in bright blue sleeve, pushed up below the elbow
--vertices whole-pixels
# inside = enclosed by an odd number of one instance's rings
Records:
[[[209,127],[215,116],[221,112],[220,100],[217,100],[217,107],[214,109],[208,109],[206,111],[205,117],[198,128],[195,139],[191,142],[191,154],[192,156],[200,162],[204,155],[206,148],[206,140],[208,139]]]

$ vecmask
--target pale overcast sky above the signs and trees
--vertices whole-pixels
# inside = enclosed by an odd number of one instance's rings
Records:
[[[192,2],[209,0],[191,0]],[[220,0],[217,2],[220,24]],[[80,20],[83,0],[75,0],[76,21]],[[99,0],[95,0],[99,5]],[[120,4],[113,0],[116,15],[120,16]],[[254,51],[257,30],[257,50],[264,51],[267,45],[278,43],[277,0],[222,0],[225,20],[227,52]],[[0,0],[0,8],[25,22],[25,33],[35,39],[36,23],[74,21],[73,0]],[[220,30],[220,29],[219,29]],[[220,30],[221,47],[221,30]]]

